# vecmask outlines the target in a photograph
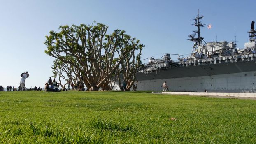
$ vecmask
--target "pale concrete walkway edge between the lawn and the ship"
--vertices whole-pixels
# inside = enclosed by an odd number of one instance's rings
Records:
[[[256,93],[198,93],[198,92],[158,92],[158,93],[173,94],[173,95],[197,95],[197,96],[199,95],[199,96],[209,96],[214,98],[240,98],[240,99],[256,100]]]

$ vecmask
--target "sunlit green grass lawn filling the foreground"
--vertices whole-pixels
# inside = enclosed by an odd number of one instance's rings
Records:
[[[256,100],[0,92],[0,143],[256,143]]]

